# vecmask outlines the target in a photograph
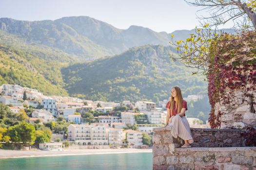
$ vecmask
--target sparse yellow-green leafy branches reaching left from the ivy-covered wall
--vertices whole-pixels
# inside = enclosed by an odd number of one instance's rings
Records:
[[[213,39],[218,34],[205,24],[203,29],[196,29],[195,34],[190,34],[186,41],[174,42],[172,35],[171,44],[176,47],[177,55],[170,55],[171,59],[183,63],[186,67],[196,68],[193,74],[207,75],[209,71],[210,54],[209,49]]]

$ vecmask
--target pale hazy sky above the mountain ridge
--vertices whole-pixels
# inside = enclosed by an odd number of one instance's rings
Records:
[[[89,16],[119,29],[138,25],[167,33],[198,26],[197,10],[183,0],[0,0],[0,17],[34,21]]]

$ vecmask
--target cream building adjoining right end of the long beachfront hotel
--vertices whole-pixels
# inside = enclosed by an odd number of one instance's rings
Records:
[[[121,145],[122,144],[122,129],[109,128],[109,144],[112,145]]]

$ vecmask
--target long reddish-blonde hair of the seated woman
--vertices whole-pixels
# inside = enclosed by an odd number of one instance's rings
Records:
[[[182,109],[182,100],[183,100],[181,90],[178,86],[174,86],[171,89],[173,88],[175,88],[176,90],[176,98],[177,98],[177,102],[175,103],[175,108],[177,110],[177,113],[180,113]],[[171,116],[173,116],[173,108],[174,108],[174,97],[171,95],[171,99],[170,99]]]

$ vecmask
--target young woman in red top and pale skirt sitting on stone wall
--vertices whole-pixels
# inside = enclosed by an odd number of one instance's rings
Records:
[[[188,110],[187,102],[183,100],[181,90],[178,86],[172,87],[170,101],[167,102],[166,126],[171,126],[172,135],[177,138],[179,136],[185,141],[181,148],[189,148],[194,142],[189,127],[188,120],[185,117],[185,111]]]

